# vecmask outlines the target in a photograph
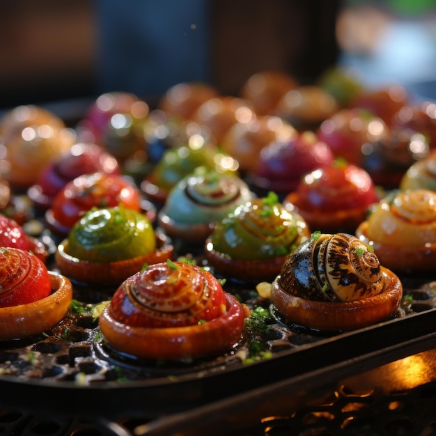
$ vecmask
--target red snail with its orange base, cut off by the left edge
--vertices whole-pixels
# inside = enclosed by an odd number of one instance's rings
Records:
[[[40,334],[61,321],[72,284],[30,251],[0,247],[0,340]]]

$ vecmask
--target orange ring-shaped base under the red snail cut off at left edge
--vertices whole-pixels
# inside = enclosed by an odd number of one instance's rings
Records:
[[[54,327],[67,313],[72,284],[61,274],[49,271],[52,293],[28,304],[0,308],[0,340],[9,341],[40,334]]]

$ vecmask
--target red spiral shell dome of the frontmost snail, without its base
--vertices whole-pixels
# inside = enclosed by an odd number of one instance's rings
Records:
[[[219,318],[226,297],[201,267],[180,262],[149,265],[123,282],[111,301],[114,318],[134,327],[185,327]]]

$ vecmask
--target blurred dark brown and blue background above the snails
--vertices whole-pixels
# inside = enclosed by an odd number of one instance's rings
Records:
[[[237,94],[252,74],[329,66],[436,99],[434,0],[14,0],[0,15],[0,109],[180,81]]]

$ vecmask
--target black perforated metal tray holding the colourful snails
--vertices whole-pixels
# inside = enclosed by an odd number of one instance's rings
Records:
[[[208,267],[205,261],[197,261]],[[435,334],[436,283],[430,277],[401,279],[403,302],[394,316],[336,334],[286,325],[274,306],[256,297],[254,284],[227,281],[228,292],[238,294],[251,307],[265,306],[272,315],[267,334],[260,337],[270,355],[250,363],[241,357],[250,338],[236,352],[210,360],[177,365],[138,361],[109,350],[99,334],[98,320],[91,315],[69,312],[45,334],[0,343],[0,406],[111,420],[128,413],[154,420],[253,389],[268,390],[283,380],[298,380],[345,361],[356,364],[368,355],[377,364],[392,349],[404,350],[405,344]],[[74,292],[77,301],[92,305],[109,299],[113,290],[75,284]],[[60,398],[68,400],[68,407]]]

